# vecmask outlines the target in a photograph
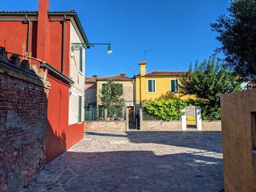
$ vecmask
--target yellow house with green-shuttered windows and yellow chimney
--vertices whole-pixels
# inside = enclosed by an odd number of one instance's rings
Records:
[[[180,98],[189,99],[191,96],[182,96],[178,90],[178,79],[184,72],[146,72],[146,61],[140,61],[140,74],[135,75],[136,104],[151,99]]]

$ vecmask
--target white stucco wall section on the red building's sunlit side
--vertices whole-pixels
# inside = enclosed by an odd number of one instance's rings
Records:
[[[78,34],[75,26],[70,25],[70,43],[80,43],[82,38]],[[71,45],[70,45],[71,46]],[[80,52],[74,50],[73,57],[70,57],[70,78],[75,82],[74,85],[69,88],[69,125],[78,123],[78,99],[79,95],[82,96],[82,111],[81,118],[84,121],[84,77],[85,77],[85,59],[86,52],[83,50],[83,70],[80,72]]]

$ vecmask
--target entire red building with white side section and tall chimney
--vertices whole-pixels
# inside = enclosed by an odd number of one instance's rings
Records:
[[[88,44],[88,39],[76,12],[49,12],[49,0],[39,0],[38,12],[0,12],[0,28],[1,47],[20,54],[25,49],[48,70],[50,162],[83,139],[85,51],[70,50],[72,43]]]

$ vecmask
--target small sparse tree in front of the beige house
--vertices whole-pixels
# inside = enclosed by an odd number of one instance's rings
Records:
[[[102,84],[100,90],[101,107],[108,110],[108,117],[120,117],[124,110],[124,94],[123,85],[116,83],[113,80],[108,80],[107,83]]]

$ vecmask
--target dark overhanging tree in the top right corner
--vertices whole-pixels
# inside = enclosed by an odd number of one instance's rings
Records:
[[[256,77],[256,0],[232,0],[227,9],[230,15],[219,16],[212,23],[225,54],[227,66],[244,80]]]

